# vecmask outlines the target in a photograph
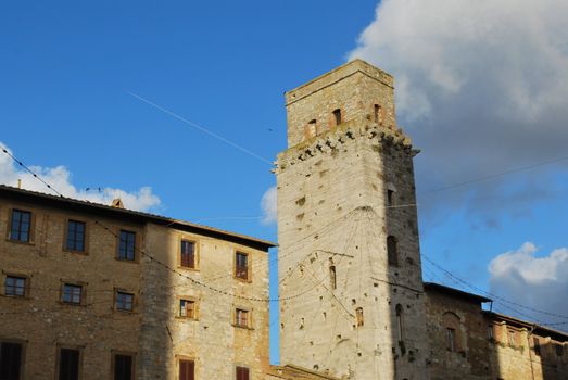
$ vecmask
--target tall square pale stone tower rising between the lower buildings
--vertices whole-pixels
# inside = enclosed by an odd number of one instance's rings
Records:
[[[286,93],[280,356],[345,379],[425,379],[411,140],[393,78],[355,60]]]

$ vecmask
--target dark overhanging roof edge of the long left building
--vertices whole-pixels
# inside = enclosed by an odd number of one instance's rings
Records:
[[[134,210],[118,208],[100,203],[80,201],[72,198],[46,194],[42,192],[17,189],[14,187],[0,185],[0,198],[15,198],[27,202],[43,202],[53,206],[67,206],[83,212],[103,214],[110,217],[132,219],[141,223],[154,223],[163,226],[171,226],[190,232],[201,233],[223,240],[251,245],[267,251],[269,248],[277,246],[276,243],[267,240],[256,239],[247,235],[230,232],[214,227],[198,225],[194,223],[169,218],[166,216],[142,213]]]

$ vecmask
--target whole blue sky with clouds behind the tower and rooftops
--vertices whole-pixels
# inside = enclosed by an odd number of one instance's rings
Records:
[[[286,148],[283,91],[361,56],[395,75],[399,119],[422,149],[422,253],[479,288],[568,315],[526,297],[526,287],[568,289],[567,161],[427,193],[568,155],[568,35],[557,28],[568,12],[521,2],[491,16],[466,0],[4,2],[0,141],[71,194],[122,189],[142,208],[276,241],[261,223],[270,165],[132,93],[272,162]],[[0,163],[14,185],[17,170]]]

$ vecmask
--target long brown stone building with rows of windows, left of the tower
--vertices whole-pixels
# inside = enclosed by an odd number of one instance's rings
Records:
[[[0,233],[0,379],[268,371],[272,243],[8,187]]]

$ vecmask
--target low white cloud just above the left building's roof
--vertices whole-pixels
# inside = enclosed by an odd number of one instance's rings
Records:
[[[1,143],[2,147],[5,144]],[[9,150],[7,148],[7,150]],[[10,151],[10,150],[9,150]],[[11,152],[11,151],[10,151]],[[11,152],[12,153],[12,152]],[[136,211],[150,211],[160,205],[160,198],[152,193],[149,187],[142,187],[137,191],[128,192],[114,188],[102,188],[100,192],[77,189],[71,181],[71,173],[64,166],[41,167],[30,166],[31,172],[36,173],[41,179],[64,197],[85,200],[96,203],[110,205],[111,202],[121,198],[125,207]],[[46,185],[37,178],[14,164],[13,160],[7,154],[0,155],[0,183],[17,187],[17,180],[22,181],[22,188],[53,194]]]

